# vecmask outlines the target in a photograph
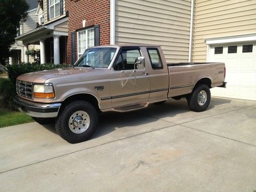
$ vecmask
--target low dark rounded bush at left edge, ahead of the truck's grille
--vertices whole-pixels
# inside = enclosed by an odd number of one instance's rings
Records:
[[[16,94],[15,84],[8,78],[0,78],[0,108],[15,110],[13,98]]]

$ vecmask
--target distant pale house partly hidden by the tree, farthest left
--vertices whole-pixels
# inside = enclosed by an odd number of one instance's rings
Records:
[[[37,1],[27,0],[27,3],[29,5],[28,16],[25,22],[20,22],[19,29],[17,30],[18,31],[17,36],[27,33],[28,31],[36,28],[37,16],[35,15],[35,12],[36,12]],[[29,48],[38,49],[34,45],[29,46]],[[11,56],[9,57],[10,64],[12,63],[19,64],[25,61],[26,54],[24,51],[24,45],[22,41],[16,40],[15,44],[11,46],[10,50],[11,50]],[[29,58],[29,60],[33,61],[31,57]]]

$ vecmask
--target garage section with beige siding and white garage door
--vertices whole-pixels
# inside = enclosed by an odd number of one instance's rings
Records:
[[[195,2],[193,59],[225,62],[227,88],[215,96],[256,100],[256,1]]]

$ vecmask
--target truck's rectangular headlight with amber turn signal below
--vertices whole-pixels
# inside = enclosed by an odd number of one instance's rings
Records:
[[[52,84],[34,84],[34,98],[52,99],[55,97]]]

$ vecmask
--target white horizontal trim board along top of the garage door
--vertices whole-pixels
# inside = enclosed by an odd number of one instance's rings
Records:
[[[231,42],[256,41],[256,34],[237,35],[205,39],[206,45],[228,44]]]

